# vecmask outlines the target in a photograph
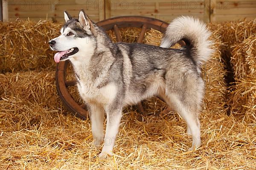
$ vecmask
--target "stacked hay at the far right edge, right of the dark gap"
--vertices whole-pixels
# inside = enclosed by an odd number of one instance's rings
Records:
[[[253,112],[255,105],[253,97],[249,97],[253,96],[253,87],[247,83],[255,81],[248,75],[255,74],[256,67],[256,19],[211,23],[210,28],[215,30],[215,34],[220,37],[219,40],[223,44],[219,50],[227,69],[227,109],[229,113],[246,116],[247,111]]]

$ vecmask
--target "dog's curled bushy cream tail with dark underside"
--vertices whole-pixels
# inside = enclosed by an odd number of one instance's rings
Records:
[[[186,43],[185,48],[197,65],[207,61],[213,50],[209,41],[210,31],[199,19],[189,16],[178,17],[166,29],[160,47],[169,48],[180,40]]]

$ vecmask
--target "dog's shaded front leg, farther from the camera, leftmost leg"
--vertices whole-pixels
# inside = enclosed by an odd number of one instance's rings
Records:
[[[89,108],[90,120],[92,125],[92,133],[94,139],[94,145],[99,147],[104,139],[103,124],[104,124],[104,109],[97,107],[97,104],[93,104]]]

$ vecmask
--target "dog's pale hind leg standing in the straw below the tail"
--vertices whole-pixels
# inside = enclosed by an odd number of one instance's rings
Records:
[[[187,132],[192,135],[192,147],[189,150],[193,150],[194,147],[199,147],[201,144],[201,133],[200,133],[200,122],[198,119],[198,105],[192,102],[182,102],[179,99],[178,95],[175,94],[168,94],[162,96],[165,102],[175,109],[180,116],[186,121],[187,123]],[[188,101],[188,100],[185,100]]]

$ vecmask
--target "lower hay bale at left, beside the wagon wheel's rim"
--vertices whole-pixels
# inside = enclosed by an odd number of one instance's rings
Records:
[[[43,108],[55,108],[59,101],[55,87],[55,71],[22,71],[0,74],[0,98],[12,96]]]

